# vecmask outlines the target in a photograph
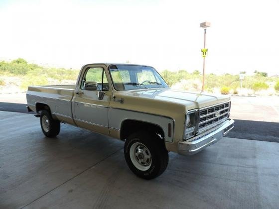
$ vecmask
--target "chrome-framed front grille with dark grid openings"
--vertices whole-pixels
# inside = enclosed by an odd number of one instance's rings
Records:
[[[205,107],[200,110],[199,130],[205,129],[209,125],[218,123],[229,116],[230,104],[217,104],[210,107]]]

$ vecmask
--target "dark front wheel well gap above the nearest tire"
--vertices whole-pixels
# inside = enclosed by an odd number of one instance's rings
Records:
[[[153,123],[132,119],[124,120],[124,122],[122,123],[120,130],[120,139],[125,140],[130,134],[139,130],[145,130],[151,133],[155,133],[162,139],[164,139],[164,131],[160,126]]]

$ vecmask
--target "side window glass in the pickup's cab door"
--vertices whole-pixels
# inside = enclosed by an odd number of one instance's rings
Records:
[[[81,89],[84,89],[84,82],[97,82],[97,89],[109,91],[108,79],[103,68],[88,68],[81,82]]]

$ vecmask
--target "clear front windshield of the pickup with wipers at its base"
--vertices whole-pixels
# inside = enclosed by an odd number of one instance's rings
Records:
[[[167,88],[162,77],[152,67],[139,65],[111,65],[110,73],[117,91]]]

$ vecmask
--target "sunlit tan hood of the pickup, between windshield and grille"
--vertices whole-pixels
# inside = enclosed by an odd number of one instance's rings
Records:
[[[120,92],[119,92],[120,93]],[[136,98],[149,98],[184,104],[187,109],[202,108],[230,100],[226,95],[210,95],[207,93],[193,93],[172,89],[144,89],[121,92],[123,96]]]

